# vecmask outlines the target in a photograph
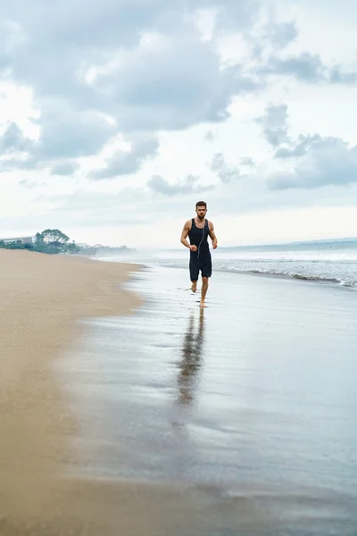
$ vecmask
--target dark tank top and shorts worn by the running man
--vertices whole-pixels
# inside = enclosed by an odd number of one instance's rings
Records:
[[[197,251],[190,251],[189,271],[191,281],[198,280],[198,274],[201,271],[202,277],[212,276],[212,258],[208,245],[208,236],[210,229],[208,220],[205,221],[203,229],[198,229],[195,224],[195,218],[192,218],[191,230],[188,238],[191,246],[197,246]]]

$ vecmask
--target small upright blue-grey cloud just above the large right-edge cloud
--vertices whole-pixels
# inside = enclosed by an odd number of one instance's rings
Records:
[[[288,140],[287,105],[268,105],[264,115],[255,121],[262,125],[262,133],[272,147]]]

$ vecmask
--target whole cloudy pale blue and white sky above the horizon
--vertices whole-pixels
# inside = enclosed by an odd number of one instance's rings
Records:
[[[0,234],[356,236],[353,0],[0,0]]]

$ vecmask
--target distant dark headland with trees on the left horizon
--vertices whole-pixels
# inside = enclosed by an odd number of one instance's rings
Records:
[[[37,232],[35,240],[24,241],[14,239],[12,241],[0,239],[0,248],[3,249],[26,249],[37,251],[50,255],[56,254],[75,254],[75,255],[95,255],[98,251],[104,253],[129,253],[134,251],[126,246],[106,247],[106,246],[88,246],[87,244],[77,244],[59,229],[46,229]]]

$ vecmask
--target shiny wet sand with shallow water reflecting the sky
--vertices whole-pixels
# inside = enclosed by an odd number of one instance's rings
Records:
[[[202,311],[168,268],[129,288],[137,314],[92,322],[66,361],[76,472],[195,489],[206,535],[356,534],[355,295],[215,273]]]

